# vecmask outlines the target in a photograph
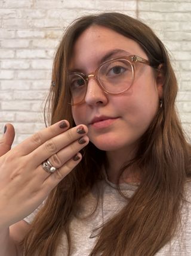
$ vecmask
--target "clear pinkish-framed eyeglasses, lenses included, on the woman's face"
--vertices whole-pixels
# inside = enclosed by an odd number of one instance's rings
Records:
[[[141,62],[150,65],[149,61],[137,55],[124,56],[103,62],[100,67],[91,74],[69,73],[69,88],[71,105],[84,103],[87,93],[88,81],[91,77],[96,79],[102,91],[106,94],[122,94],[134,83],[135,64]]]

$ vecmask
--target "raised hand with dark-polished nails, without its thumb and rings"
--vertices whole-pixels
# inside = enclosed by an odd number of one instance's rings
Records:
[[[9,227],[29,215],[48,193],[81,161],[88,144],[85,125],[69,129],[60,121],[42,129],[0,158],[0,228]],[[48,173],[46,159],[58,168]]]

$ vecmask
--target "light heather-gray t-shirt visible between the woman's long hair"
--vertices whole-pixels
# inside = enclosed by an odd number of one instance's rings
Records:
[[[72,256],[88,256],[96,244],[96,234],[98,227],[101,227],[108,219],[127,204],[127,199],[122,197],[116,186],[107,181],[98,183],[101,190],[101,199],[98,201],[98,207],[93,215],[85,218],[88,213],[93,211],[97,203],[97,189],[94,188],[81,202],[78,216],[73,216],[70,222],[70,235],[72,237]],[[122,192],[131,197],[137,189],[136,184],[121,184]],[[187,200],[190,201],[191,188],[187,185]],[[27,216],[24,220],[28,223],[32,219],[36,211]],[[182,210],[183,223],[181,233],[179,232],[171,242],[167,243],[156,256],[189,256],[191,255],[191,204],[187,203]],[[67,255],[66,235],[61,237],[61,243],[57,248],[56,256]]]

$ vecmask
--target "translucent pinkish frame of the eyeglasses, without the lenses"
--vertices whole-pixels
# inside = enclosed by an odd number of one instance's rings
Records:
[[[98,71],[100,70],[101,67],[103,67],[103,65],[107,64],[108,62],[110,61],[119,61],[119,60],[126,60],[126,61],[129,61],[130,64],[131,64],[131,67],[133,68],[132,71],[133,71],[133,79],[132,79],[132,82],[131,82],[131,85],[125,89],[124,91],[122,92],[109,92],[107,91],[103,85],[101,85],[101,82],[99,81],[99,78],[98,78]],[[130,87],[133,85],[134,83],[134,80],[135,80],[135,64],[137,62],[140,62],[140,63],[143,63],[143,64],[146,64],[146,65],[150,65],[150,62],[147,60],[147,59],[144,59],[140,56],[137,56],[137,55],[129,55],[129,56],[121,56],[121,57],[118,57],[118,58],[113,58],[113,59],[109,59],[108,61],[104,61],[103,63],[101,63],[101,65],[99,65],[96,70],[92,73],[89,73],[89,74],[84,74],[84,73],[79,73],[79,72],[70,72],[68,74],[68,76],[70,75],[78,75],[78,76],[81,76],[82,79],[84,79],[85,81],[85,86],[86,86],[86,91],[85,91],[85,94],[84,94],[84,98],[79,101],[79,103],[70,103],[71,106],[78,106],[78,105],[81,105],[82,103],[84,103],[84,99],[85,99],[85,96],[87,94],[87,88],[88,88],[88,82],[90,80],[91,77],[94,77],[94,79],[96,80],[98,86],[100,86],[101,90],[105,93],[105,94],[110,94],[110,95],[119,95],[119,94],[123,94],[124,92],[126,92],[128,89],[130,89]],[[72,97],[72,95],[71,95]]]

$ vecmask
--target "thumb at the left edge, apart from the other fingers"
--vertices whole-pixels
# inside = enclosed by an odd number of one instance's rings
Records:
[[[7,153],[13,144],[14,140],[14,127],[11,124],[6,124],[4,128],[4,134],[0,138],[0,156]]]

